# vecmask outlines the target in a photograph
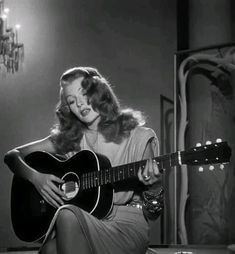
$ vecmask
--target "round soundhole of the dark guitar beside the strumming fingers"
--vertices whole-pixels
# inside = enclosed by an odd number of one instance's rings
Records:
[[[66,198],[63,199],[68,201],[75,198],[80,188],[80,180],[77,174],[68,172],[62,177],[62,180],[64,180],[64,183],[60,185],[60,189],[66,195]]]

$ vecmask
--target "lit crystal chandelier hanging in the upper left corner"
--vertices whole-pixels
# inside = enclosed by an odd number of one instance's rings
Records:
[[[0,72],[14,73],[23,61],[24,45],[18,42],[20,25],[8,26],[9,11],[0,0]]]

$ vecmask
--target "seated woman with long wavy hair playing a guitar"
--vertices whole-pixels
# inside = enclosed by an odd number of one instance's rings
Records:
[[[149,159],[158,154],[155,133],[142,126],[140,112],[120,108],[111,86],[94,68],[69,69],[60,86],[58,123],[50,135],[5,155],[14,174],[29,180],[50,205],[59,208],[41,253],[145,253],[149,226],[142,193],[160,176],[156,162]],[[138,183],[114,185],[113,207],[101,220],[76,206],[64,206],[66,194],[57,187],[63,180],[24,161],[34,151],[70,158],[84,149],[105,155],[112,166],[147,159],[138,171]]]

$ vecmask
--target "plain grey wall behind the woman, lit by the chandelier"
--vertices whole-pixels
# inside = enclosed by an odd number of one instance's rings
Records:
[[[121,103],[144,111],[160,136],[160,94],[173,97],[176,49],[175,1],[6,0],[5,6],[9,24],[22,26],[25,60],[19,73],[0,77],[0,247],[24,245],[11,228],[12,173],[3,156],[48,135],[61,73],[97,67]]]

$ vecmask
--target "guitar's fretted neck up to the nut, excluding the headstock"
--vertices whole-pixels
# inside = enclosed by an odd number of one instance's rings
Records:
[[[155,160],[160,172],[166,167],[181,164],[180,152],[152,158]],[[82,175],[81,186],[83,189],[90,189],[105,184],[116,183],[130,178],[137,177],[140,168],[144,169],[147,160],[128,163],[100,171],[92,171]]]

